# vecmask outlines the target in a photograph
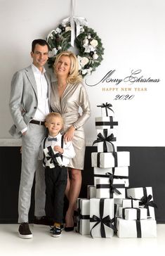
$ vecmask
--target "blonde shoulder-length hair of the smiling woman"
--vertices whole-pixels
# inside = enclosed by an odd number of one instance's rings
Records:
[[[72,51],[62,51],[58,54],[58,56],[55,58],[55,63],[53,65],[54,72],[57,63],[62,56],[68,56],[70,58],[70,73],[67,77],[67,82],[71,84],[74,82],[81,82],[82,77],[79,74],[79,63],[77,60],[77,56],[72,53]],[[55,75],[57,75],[56,72]]]

